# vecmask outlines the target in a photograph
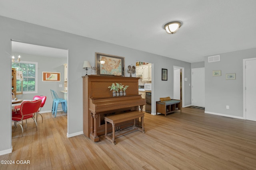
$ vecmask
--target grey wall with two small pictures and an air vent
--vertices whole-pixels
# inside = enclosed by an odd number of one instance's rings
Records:
[[[242,118],[243,59],[256,57],[256,48],[218,55],[218,62],[208,63],[208,57],[204,60],[205,112]],[[221,70],[221,76],[212,76],[213,70]],[[236,80],[226,80],[228,73],[236,73]],[[226,109],[227,105],[230,109]]]

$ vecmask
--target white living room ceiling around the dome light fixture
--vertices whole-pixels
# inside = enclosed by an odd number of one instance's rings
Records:
[[[255,0],[1,0],[0,16],[186,61],[256,47]],[[182,26],[167,34],[165,23]]]

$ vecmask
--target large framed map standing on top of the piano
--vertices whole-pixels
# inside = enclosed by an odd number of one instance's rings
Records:
[[[104,76],[125,76],[124,57],[95,53],[96,68],[98,75]]]

